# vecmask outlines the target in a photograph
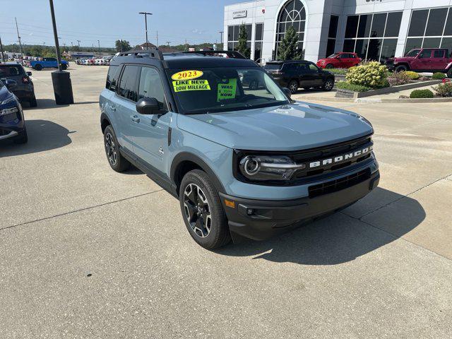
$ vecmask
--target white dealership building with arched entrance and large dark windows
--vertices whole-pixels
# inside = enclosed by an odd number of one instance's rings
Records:
[[[225,6],[224,43],[237,50],[244,23],[251,59],[275,59],[291,25],[304,59],[356,52],[384,62],[417,47],[452,51],[452,0],[260,0]]]

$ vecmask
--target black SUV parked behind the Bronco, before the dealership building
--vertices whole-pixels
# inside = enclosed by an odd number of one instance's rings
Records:
[[[268,61],[264,68],[281,87],[289,88],[292,93],[299,88],[330,91],[334,87],[334,74],[310,61]]]

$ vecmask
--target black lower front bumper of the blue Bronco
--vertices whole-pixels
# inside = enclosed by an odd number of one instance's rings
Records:
[[[220,196],[233,238],[234,234],[239,234],[249,239],[265,240],[304,222],[350,206],[376,188],[379,179],[380,174],[376,170],[371,174],[369,172],[369,176],[363,181],[346,189],[290,201],[257,201],[226,194]],[[225,199],[234,201],[234,208],[225,206]]]

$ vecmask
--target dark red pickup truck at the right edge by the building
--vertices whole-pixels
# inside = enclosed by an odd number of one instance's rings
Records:
[[[452,78],[452,57],[445,48],[412,49],[405,57],[386,60],[390,71],[442,72]]]

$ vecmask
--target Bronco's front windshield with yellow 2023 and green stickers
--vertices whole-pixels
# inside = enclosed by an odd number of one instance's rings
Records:
[[[168,70],[170,85],[187,114],[226,112],[289,103],[273,78],[260,67]]]

